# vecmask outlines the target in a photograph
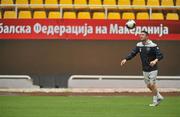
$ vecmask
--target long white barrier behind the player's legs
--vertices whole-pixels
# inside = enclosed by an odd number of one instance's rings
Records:
[[[158,76],[161,88],[180,88],[180,76]],[[143,76],[72,75],[69,88],[144,88]]]

